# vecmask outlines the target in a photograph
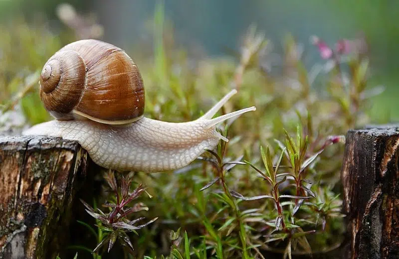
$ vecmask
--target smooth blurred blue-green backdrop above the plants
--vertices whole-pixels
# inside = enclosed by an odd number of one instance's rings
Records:
[[[18,18],[29,23],[41,21],[57,34],[64,24],[56,15],[62,0],[0,0],[0,21],[9,29]],[[92,12],[104,26],[103,40],[130,50],[133,57],[143,54],[133,45],[151,41],[155,0],[70,0],[79,12]],[[174,40],[198,55],[225,55],[236,50],[248,26],[256,24],[267,38],[281,50],[281,40],[292,33],[298,42],[308,43],[313,34],[329,43],[339,38],[364,33],[370,45],[373,74],[370,82],[383,84],[386,91],[373,101],[370,113],[374,121],[381,118],[397,120],[396,106],[399,81],[399,16],[397,3],[392,0],[168,0],[165,16],[173,27]],[[36,23],[37,26],[39,24]],[[6,30],[7,27],[2,27]],[[31,26],[35,27],[35,26]],[[3,33],[3,32],[1,32]],[[62,40],[63,39],[63,40]],[[68,37],[61,37],[63,44]],[[51,53],[53,45],[37,46]],[[13,46],[15,47],[15,46]],[[151,49],[150,49],[151,51]],[[21,53],[15,51],[15,53]],[[144,51],[144,54],[150,54]],[[136,58],[137,59],[137,58]],[[309,67],[317,59],[317,51],[309,50],[305,64]],[[42,62],[41,59],[35,59]]]

